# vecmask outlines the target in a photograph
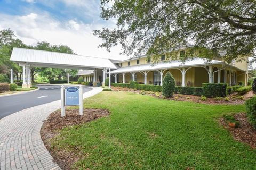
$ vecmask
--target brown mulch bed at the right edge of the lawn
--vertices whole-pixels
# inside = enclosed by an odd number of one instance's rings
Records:
[[[228,122],[224,118],[220,118],[220,124],[231,132],[235,140],[247,143],[252,148],[256,148],[256,130],[248,122],[246,113],[235,114],[234,118],[236,121],[239,121],[237,128],[229,127]]]

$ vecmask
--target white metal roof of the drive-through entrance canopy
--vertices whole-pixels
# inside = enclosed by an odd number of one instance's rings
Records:
[[[11,61],[38,67],[58,67],[69,69],[116,69],[107,58],[81,56],[75,54],[48,52],[43,50],[13,48]]]

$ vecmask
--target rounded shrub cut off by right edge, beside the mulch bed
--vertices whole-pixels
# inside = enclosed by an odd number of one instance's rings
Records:
[[[256,129],[256,97],[252,97],[251,99],[247,100],[245,102],[245,107],[249,122],[253,125],[254,129]]]

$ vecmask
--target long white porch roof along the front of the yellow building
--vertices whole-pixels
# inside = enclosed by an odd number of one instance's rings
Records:
[[[181,62],[178,60],[170,61],[170,62],[159,62],[156,64],[141,64],[134,66],[121,67],[119,69],[111,71],[111,73],[125,73],[125,72],[138,72],[138,71],[148,71],[148,70],[162,70],[162,69],[171,69],[171,68],[179,68],[179,67],[191,67],[191,66],[204,66],[211,64],[225,64],[225,62],[218,60],[207,61],[203,58],[194,58],[193,60],[189,60],[186,62]]]

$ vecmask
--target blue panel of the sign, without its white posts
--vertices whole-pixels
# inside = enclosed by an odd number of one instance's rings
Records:
[[[79,105],[79,90],[76,87],[65,89],[65,106]]]

